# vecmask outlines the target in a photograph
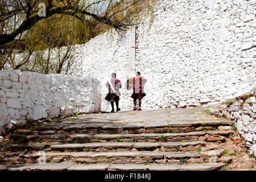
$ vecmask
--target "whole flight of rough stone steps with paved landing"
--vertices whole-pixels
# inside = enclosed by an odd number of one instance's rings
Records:
[[[233,133],[232,124],[204,110],[131,111],[38,122],[0,143],[0,170],[220,169],[232,160],[222,156],[221,148]],[[39,164],[43,159],[46,164]]]

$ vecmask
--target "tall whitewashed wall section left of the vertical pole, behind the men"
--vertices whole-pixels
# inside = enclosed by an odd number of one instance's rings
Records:
[[[91,76],[101,81],[101,110],[111,110],[105,97],[108,93],[106,82],[113,72],[117,73],[117,78],[122,82],[119,101],[121,111],[131,109],[132,92],[125,88],[125,81],[129,78],[129,31],[121,35],[114,31],[105,32],[86,44],[76,45],[75,51],[75,59],[80,65],[76,74]]]

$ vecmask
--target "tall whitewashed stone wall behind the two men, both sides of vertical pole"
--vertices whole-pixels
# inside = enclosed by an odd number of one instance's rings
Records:
[[[213,105],[255,88],[255,0],[160,1],[153,17],[137,29],[136,71],[147,78],[142,109]],[[129,77],[129,31],[106,32],[76,46],[77,73],[102,84]],[[121,89],[121,109],[133,106],[131,91]]]

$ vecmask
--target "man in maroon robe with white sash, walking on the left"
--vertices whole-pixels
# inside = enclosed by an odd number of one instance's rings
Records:
[[[109,81],[106,83],[106,87],[109,89],[109,93],[106,95],[105,97],[105,100],[109,101],[111,106],[112,106],[112,113],[114,113],[114,102],[115,102],[115,105],[117,106],[117,112],[119,110],[121,110],[119,107],[118,107],[118,104],[119,104],[119,96],[117,96],[117,94],[115,94],[115,92],[118,93],[118,95],[120,95],[120,92],[119,92],[119,88],[121,88],[122,84],[121,84],[121,81],[117,78],[117,75],[115,73],[112,73],[112,78],[110,80],[113,88],[115,90],[112,90],[111,87],[110,87],[110,83]]]

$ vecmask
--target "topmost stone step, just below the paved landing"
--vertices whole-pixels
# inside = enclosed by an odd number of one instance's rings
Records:
[[[56,131],[81,133],[81,134],[140,134],[140,133],[187,133],[192,131],[214,130],[222,125],[230,125],[229,122],[222,120],[208,121],[150,121],[150,122],[128,122],[128,123],[59,123],[52,126],[39,126],[31,130],[18,130],[18,134],[53,134]]]

